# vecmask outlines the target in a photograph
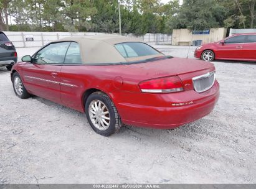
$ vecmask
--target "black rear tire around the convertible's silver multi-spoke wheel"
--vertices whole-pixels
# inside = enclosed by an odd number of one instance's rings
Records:
[[[90,113],[90,103],[93,101],[101,101],[103,105],[107,107],[108,114],[107,116],[110,118],[109,126],[105,130],[100,130],[96,126],[93,125],[92,120],[90,118],[90,114],[92,116],[92,113]],[[121,118],[116,110],[115,104],[111,99],[107,96],[107,94],[102,92],[95,92],[90,94],[88,96],[87,101],[85,103],[85,114],[87,116],[88,122],[92,129],[97,132],[97,134],[100,134],[102,136],[110,136],[111,134],[114,134],[115,132],[118,132],[118,130],[121,128]]]

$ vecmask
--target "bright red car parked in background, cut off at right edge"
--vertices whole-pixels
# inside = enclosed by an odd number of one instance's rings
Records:
[[[256,61],[256,33],[235,34],[196,48],[194,57],[207,62],[213,60]]]

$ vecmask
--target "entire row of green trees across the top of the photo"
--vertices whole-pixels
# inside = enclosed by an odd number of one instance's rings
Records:
[[[256,26],[256,0],[121,0],[123,34]],[[118,0],[0,0],[0,29],[118,33]],[[11,17],[11,19],[10,19]],[[14,24],[15,22],[15,24]]]

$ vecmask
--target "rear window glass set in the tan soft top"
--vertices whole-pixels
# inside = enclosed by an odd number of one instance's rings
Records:
[[[115,48],[125,58],[144,57],[159,54],[159,52],[153,47],[140,42],[126,42],[122,44],[116,44]]]

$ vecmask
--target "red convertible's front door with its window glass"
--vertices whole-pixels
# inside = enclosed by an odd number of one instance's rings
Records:
[[[32,57],[32,63],[24,64],[22,74],[28,91],[61,103],[60,70],[69,45],[70,42],[49,44]]]

